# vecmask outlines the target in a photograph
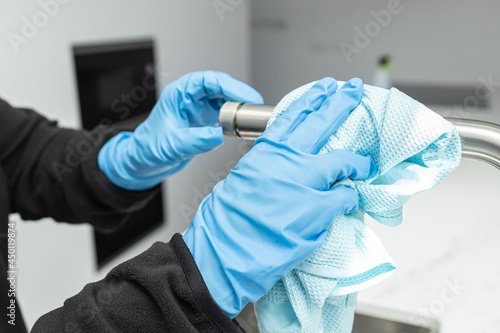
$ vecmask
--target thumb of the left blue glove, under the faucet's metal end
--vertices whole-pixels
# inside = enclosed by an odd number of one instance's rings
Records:
[[[219,147],[223,143],[221,127],[190,127],[181,129],[182,142],[177,145],[178,156],[195,156]]]

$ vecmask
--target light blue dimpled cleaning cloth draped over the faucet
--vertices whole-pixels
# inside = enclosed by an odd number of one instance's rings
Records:
[[[314,83],[286,95],[268,126]],[[379,171],[367,181],[342,181],[358,191],[358,211],[336,218],[322,245],[255,304],[261,332],[351,332],[357,292],[396,268],[364,214],[400,224],[410,196],[441,182],[461,158],[451,123],[395,88],[368,85],[319,153],[339,148],[373,156]]]

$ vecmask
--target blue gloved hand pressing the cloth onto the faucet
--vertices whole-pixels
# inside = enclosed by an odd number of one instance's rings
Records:
[[[325,78],[276,119],[202,201],[184,235],[231,318],[311,255],[337,216],[357,209],[357,192],[335,183],[377,170],[371,157],[347,150],[317,154],[359,104],[363,83],[336,89]]]

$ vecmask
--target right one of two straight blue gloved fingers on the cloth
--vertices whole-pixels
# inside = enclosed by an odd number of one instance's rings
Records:
[[[363,82],[351,79],[328,97],[319,110],[307,118],[290,134],[290,145],[305,153],[316,154],[337,131],[352,110],[361,102]]]

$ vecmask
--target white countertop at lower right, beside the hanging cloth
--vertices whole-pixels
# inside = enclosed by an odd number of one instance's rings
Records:
[[[403,224],[367,218],[396,273],[360,292],[359,309],[389,308],[440,333],[500,332],[500,170],[463,160],[436,188],[405,205]]]

